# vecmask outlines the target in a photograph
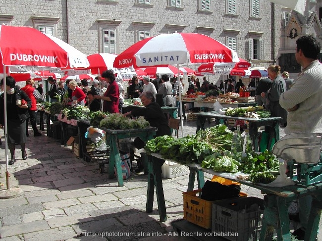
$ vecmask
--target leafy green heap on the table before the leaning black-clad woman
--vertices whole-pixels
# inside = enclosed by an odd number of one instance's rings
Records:
[[[149,122],[143,116],[135,119],[129,119],[124,117],[120,113],[109,114],[100,122],[100,127],[114,130],[125,130],[125,129],[144,129],[150,126]]]

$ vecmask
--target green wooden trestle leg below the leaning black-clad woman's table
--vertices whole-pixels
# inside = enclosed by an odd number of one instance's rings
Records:
[[[109,165],[108,165],[108,177],[112,179],[114,177],[114,167],[116,168],[116,178],[119,187],[123,187],[123,174],[121,167],[121,158],[116,146],[116,136],[110,135],[109,137]]]

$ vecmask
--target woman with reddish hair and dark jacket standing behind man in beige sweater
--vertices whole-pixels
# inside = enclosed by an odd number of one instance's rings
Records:
[[[278,65],[270,65],[267,68],[268,77],[272,80],[271,87],[267,93],[261,93],[269,101],[268,106],[273,117],[282,117],[281,123],[286,126],[287,111],[279,104],[279,96],[286,91],[285,80],[280,74]]]

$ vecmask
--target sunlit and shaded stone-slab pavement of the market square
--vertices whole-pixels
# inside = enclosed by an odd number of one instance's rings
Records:
[[[185,135],[195,134],[195,121],[184,121],[184,127]],[[9,166],[9,181],[11,187],[24,193],[0,199],[1,240],[194,240],[171,236],[171,222],[183,218],[182,192],[187,191],[189,175],[163,179],[167,221],[162,223],[156,196],[154,211],[145,212],[146,175],[132,175],[124,187],[118,187],[115,178],[100,174],[96,162],[76,158],[70,147],[61,146],[45,133],[28,138],[27,160],[22,160],[20,146],[16,146],[17,162]],[[3,141],[2,130],[1,136]],[[0,183],[5,187],[4,144],[0,147]],[[260,191],[246,186],[242,192],[263,197]],[[151,232],[158,237],[149,237]]]

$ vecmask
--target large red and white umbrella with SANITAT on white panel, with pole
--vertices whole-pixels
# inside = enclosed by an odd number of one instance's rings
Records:
[[[238,62],[235,51],[219,41],[197,33],[161,34],[141,40],[120,53],[114,61],[115,68],[166,67],[190,63],[230,63]],[[181,91],[179,90],[181,101]],[[182,106],[180,113],[182,113]],[[183,136],[183,121],[181,132]]]

